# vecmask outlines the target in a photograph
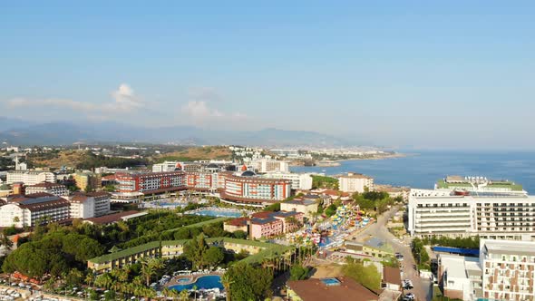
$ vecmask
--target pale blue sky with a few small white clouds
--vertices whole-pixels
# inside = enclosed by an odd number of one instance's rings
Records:
[[[0,115],[533,149],[533,15],[532,1],[2,2]]]

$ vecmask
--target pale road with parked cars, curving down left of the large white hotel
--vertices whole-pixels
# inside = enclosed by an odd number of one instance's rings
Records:
[[[413,258],[411,248],[405,246],[400,242],[392,233],[386,228],[386,223],[389,218],[392,218],[394,214],[398,211],[398,208],[394,207],[386,212],[383,215],[377,218],[377,222],[369,227],[365,228],[362,232],[358,233],[355,236],[349,236],[348,238],[366,238],[372,236],[375,238],[384,239],[388,244],[394,248],[394,252],[399,252],[404,256],[404,261],[401,262],[403,265],[403,279],[411,279],[413,281],[414,288],[409,292],[412,292],[417,300],[420,301],[430,301],[433,298],[433,283],[429,279],[421,278],[418,275],[418,272],[414,267],[416,267],[416,262]],[[405,292],[406,293],[406,292]]]

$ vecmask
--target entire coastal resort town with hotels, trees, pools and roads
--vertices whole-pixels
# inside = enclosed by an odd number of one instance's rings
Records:
[[[5,146],[5,300],[533,300],[535,198],[292,165],[385,150]]]

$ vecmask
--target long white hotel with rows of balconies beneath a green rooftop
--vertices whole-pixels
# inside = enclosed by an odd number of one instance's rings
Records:
[[[408,230],[415,237],[535,239],[535,197],[527,195],[412,189],[408,215]]]

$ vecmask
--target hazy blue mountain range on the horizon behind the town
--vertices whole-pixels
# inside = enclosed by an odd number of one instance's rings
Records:
[[[74,142],[238,144],[270,147],[355,145],[352,141],[315,131],[214,131],[191,126],[145,128],[115,122],[90,121],[41,124],[5,117],[0,117],[0,142],[12,145],[68,145]]]

